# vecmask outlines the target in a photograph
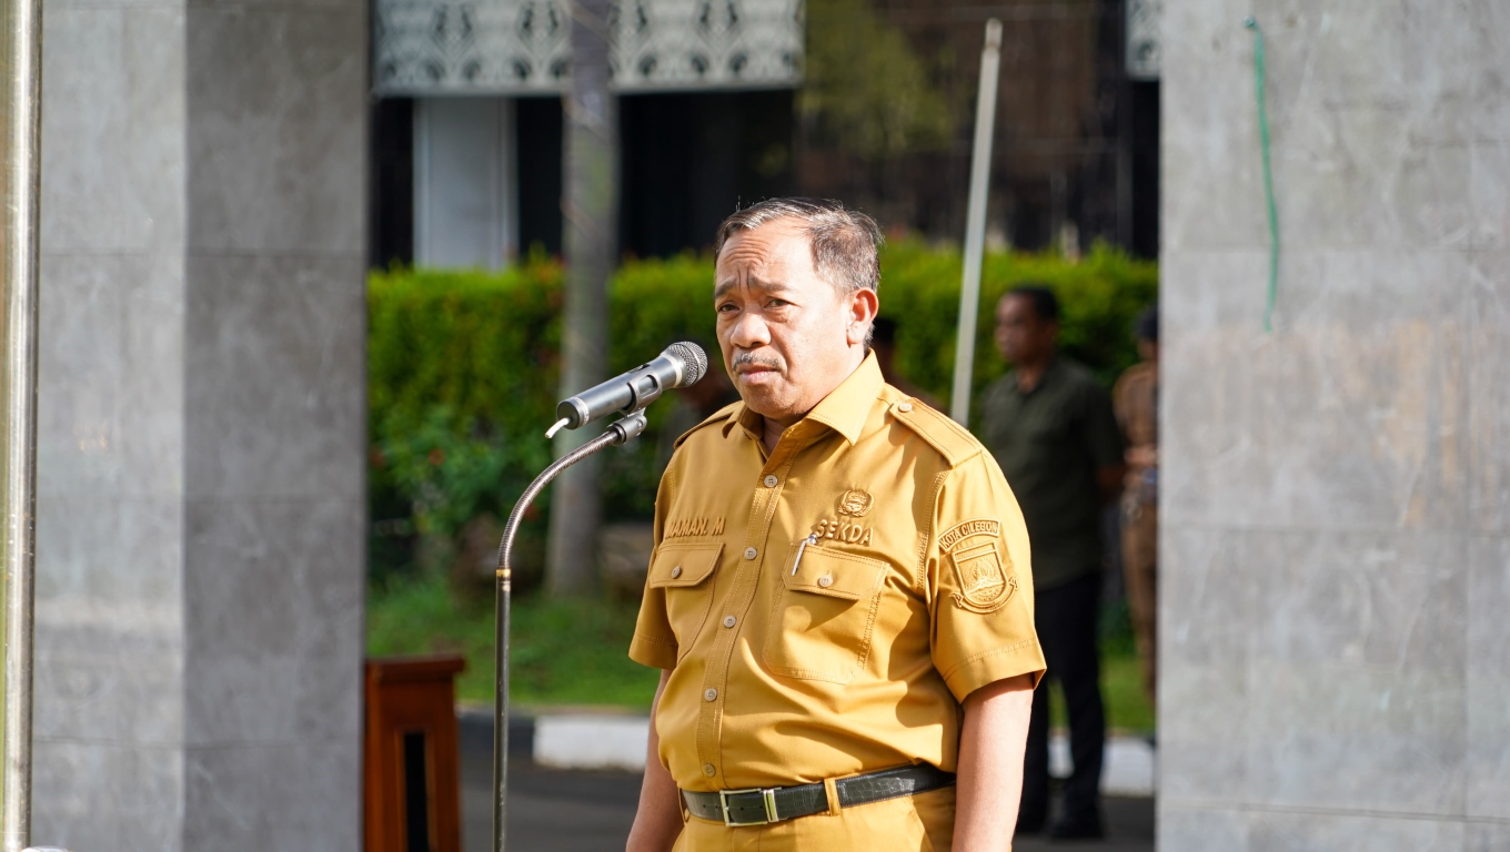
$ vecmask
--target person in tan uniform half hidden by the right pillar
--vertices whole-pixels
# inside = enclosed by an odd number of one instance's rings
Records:
[[[1143,662],[1143,688],[1155,700],[1158,676],[1158,312],[1136,324],[1143,362],[1117,378],[1111,403],[1126,437],[1126,484],[1122,490],[1122,572],[1128,614]]]

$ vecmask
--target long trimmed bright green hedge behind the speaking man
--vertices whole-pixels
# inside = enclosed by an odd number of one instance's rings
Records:
[[[948,400],[959,314],[959,252],[903,240],[882,253],[882,315],[898,321],[897,368]],[[1128,332],[1155,299],[1157,267],[1096,247],[1080,262],[988,255],[982,276],[975,391],[1006,369],[992,342],[992,306],[1010,287],[1043,282],[1063,303],[1063,347],[1110,383],[1137,354]],[[533,255],[501,273],[376,271],[368,280],[370,499],[379,538],[448,537],[482,513],[507,514],[550,458],[544,430],[556,403],[562,267]],[[627,262],[610,288],[610,369],[676,339],[711,351],[713,264],[684,255]],[[609,517],[646,517],[655,493],[649,410],[636,446],[612,451]],[[548,496],[548,493],[547,493]],[[548,507],[542,505],[542,511]],[[539,526],[539,519],[533,526]],[[374,540],[374,561],[402,562]]]

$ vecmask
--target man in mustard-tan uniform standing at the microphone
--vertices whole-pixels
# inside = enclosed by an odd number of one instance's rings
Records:
[[[655,501],[631,852],[1010,849],[1043,673],[1027,528],[991,454],[867,351],[879,241],[808,199],[719,229],[741,401]]]

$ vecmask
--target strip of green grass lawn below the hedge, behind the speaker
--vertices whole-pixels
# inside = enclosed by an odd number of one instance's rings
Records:
[[[518,706],[599,704],[648,710],[658,673],[627,656],[636,605],[595,599],[513,600],[512,700]],[[1123,645],[1123,642],[1113,642]],[[394,578],[367,597],[367,653],[402,656],[461,653],[462,701],[492,701],[492,599],[459,605],[439,576]],[[1126,650],[1104,657],[1107,724],[1154,730],[1139,664]],[[1054,719],[1063,724],[1054,694]]]

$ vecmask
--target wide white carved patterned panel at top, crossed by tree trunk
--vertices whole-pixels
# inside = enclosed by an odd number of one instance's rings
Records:
[[[621,0],[621,92],[790,87],[802,80],[802,0]],[[553,0],[376,0],[379,95],[539,95],[571,74],[571,20]]]

